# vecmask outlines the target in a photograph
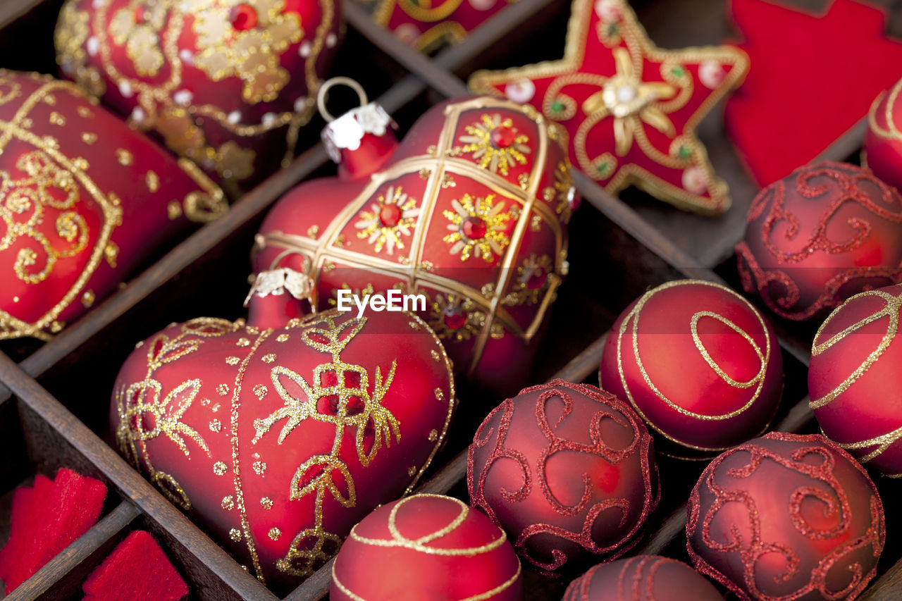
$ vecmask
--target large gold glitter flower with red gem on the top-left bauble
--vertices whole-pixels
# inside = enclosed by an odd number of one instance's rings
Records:
[[[213,81],[232,76],[242,79],[242,97],[250,104],[278,97],[290,79],[288,70],[279,64],[279,56],[304,35],[298,14],[282,12],[284,0],[256,0],[253,6],[235,0],[186,2],[195,15],[193,28],[198,35],[195,66]],[[236,29],[230,8],[253,12],[249,18],[256,23]]]

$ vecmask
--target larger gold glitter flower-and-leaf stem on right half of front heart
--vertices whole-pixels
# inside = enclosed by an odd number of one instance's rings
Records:
[[[290,500],[316,495],[313,526],[299,532],[291,541],[288,554],[276,562],[277,569],[293,576],[312,574],[341,544],[340,536],[323,528],[323,504],[327,495],[345,507],[357,504],[354,478],[340,458],[345,430],[355,428],[357,458],[364,467],[370,465],[383,443],[388,447],[392,438],[395,441],[400,439],[400,423],[391,411],[382,406],[398,362],[391,362],[391,369],[384,378],[382,370],[376,367],[373,393],[369,393],[366,369],[361,365],[345,363],[341,357],[345,347],[364,328],[367,318],[342,320],[343,315],[323,315],[305,323],[300,332],[301,339],[308,347],[330,355],[332,361],[317,365],[310,378],[312,384],[288,367],[273,367],[272,385],[285,405],[266,418],[253,422],[256,432],[253,443],[262,439],[276,422],[282,420],[285,422],[279,432],[279,444],[305,420],[331,423],[336,428],[330,452],[308,458],[291,478]],[[292,388],[303,390],[304,398],[292,396],[284,384],[286,381],[294,384]],[[364,439],[367,433],[372,433],[372,439]]]

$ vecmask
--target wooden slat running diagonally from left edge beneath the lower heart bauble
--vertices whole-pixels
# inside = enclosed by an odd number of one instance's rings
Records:
[[[276,596],[241,569],[235,559],[201,532],[112,448],[3,353],[0,353],[0,381],[97,467],[122,495],[132,499],[143,513],[161,524],[179,544],[205,564],[216,578],[234,590],[237,596],[276,599]]]

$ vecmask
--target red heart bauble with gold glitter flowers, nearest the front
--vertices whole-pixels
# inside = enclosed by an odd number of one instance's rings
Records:
[[[285,328],[193,319],[116,379],[121,452],[266,584],[288,590],[354,522],[410,491],[445,437],[451,365],[408,313]]]

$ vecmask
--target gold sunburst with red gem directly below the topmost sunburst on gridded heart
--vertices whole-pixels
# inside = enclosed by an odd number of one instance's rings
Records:
[[[511,244],[507,232],[511,214],[504,212],[502,202],[493,204],[494,198],[494,194],[484,199],[465,194],[462,199],[451,201],[453,211],[442,211],[451,222],[448,224],[451,233],[442,240],[451,245],[451,254],[460,254],[461,261],[475,254],[492,263],[495,254],[504,254],[504,248]]]

